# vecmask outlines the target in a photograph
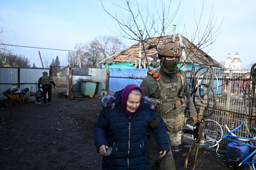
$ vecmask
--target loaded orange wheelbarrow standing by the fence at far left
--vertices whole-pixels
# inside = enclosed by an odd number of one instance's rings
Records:
[[[26,101],[28,97],[31,95],[30,91],[28,91],[26,94],[6,94],[3,93],[8,99],[5,101],[5,106],[11,107],[13,106],[13,103],[19,105],[22,102]]]

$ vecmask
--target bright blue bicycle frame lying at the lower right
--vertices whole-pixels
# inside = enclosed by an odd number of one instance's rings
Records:
[[[248,139],[248,140],[251,140],[251,141],[256,141],[256,139],[253,139],[253,138],[245,138],[245,137],[241,137],[241,136],[231,135],[232,132],[235,132],[237,129],[239,129],[243,125],[244,121],[245,121],[245,118],[243,119],[242,123],[239,126],[237,126],[235,129],[231,130],[229,133],[227,133],[225,136],[223,136],[222,139],[226,139],[226,140],[229,140],[229,141],[232,141],[232,142],[236,142],[236,143],[239,143],[239,144],[242,144],[242,145],[247,145],[247,146],[255,148],[255,150],[252,151],[247,157],[245,157],[243,159],[243,161],[238,165],[238,166],[240,166],[242,164],[248,164],[249,167],[251,168],[251,164],[255,164],[256,162],[254,162],[254,161],[253,162],[247,162],[247,160],[249,159],[249,157],[251,157],[252,155],[254,155],[256,153],[256,146],[255,145],[249,145],[247,143],[240,142],[240,141],[237,141],[237,140],[229,139],[229,138],[235,138],[235,139]]]

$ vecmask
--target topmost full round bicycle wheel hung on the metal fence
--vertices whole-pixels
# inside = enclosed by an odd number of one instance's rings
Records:
[[[202,97],[208,94],[214,82],[213,70],[208,66],[202,66],[195,71],[195,78],[197,82],[196,88],[201,91],[200,96]],[[202,84],[206,84],[207,88],[202,88]],[[195,93],[195,95],[197,96],[199,94]]]

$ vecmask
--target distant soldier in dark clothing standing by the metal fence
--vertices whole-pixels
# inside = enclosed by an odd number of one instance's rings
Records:
[[[50,105],[50,101],[52,100],[52,84],[54,85],[54,89],[56,89],[56,85],[53,79],[50,76],[47,76],[48,73],[46,71],[43,72],[43,76],[38,79],[38,88],[43,89],[43,99],[44,105],[46,105],[46,95],[48,94],[48,105]],[[41,87],[42,85],[42,87]]]

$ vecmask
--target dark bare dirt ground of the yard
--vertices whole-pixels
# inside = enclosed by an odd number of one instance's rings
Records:
[[[101,170],[93,140],[100,97],[69,101],[54,92],[51,103],[0,104],[0,170]],[[184,169],[188,151],[174,153],[177,170]],[[196,170],[231,168],[225,157],[200,149]]]

